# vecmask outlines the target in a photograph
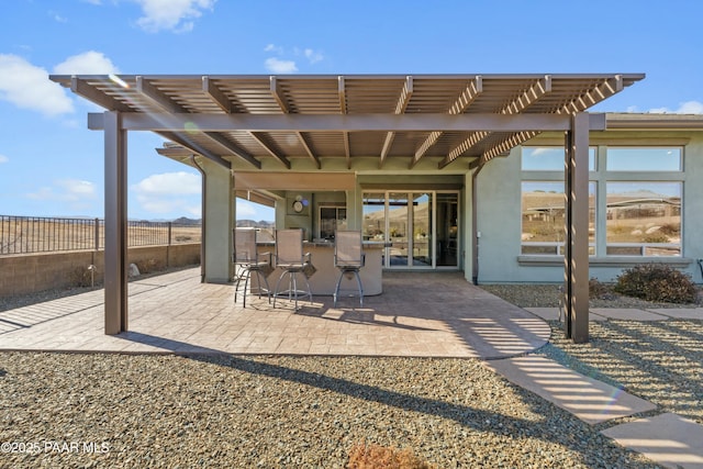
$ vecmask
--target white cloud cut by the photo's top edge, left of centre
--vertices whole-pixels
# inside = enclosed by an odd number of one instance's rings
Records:
[[[215,0],[134,0],[142,7],[144,16],[137,24],[144,31],[156,33],[169,30],[176,33],[192,31],[193,21],[202,10],[212,10]]]

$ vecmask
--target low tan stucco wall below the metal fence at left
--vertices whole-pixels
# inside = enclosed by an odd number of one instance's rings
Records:
[[[165,267],[198,265],[200,243],[175,246],[134,247],[129,250],[129,261],[156,260]],[[68,252],[27,254],[0,257],[0,295],[25,294],[42,290],[75,286],[75,277],[81,269],[96,266],[96,282],[104,275],[104,253]]]

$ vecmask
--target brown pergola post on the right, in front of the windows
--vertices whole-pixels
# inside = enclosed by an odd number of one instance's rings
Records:
[[[577,344],[589,340],[589,131],[578,113],[566,138],[565,333]]]

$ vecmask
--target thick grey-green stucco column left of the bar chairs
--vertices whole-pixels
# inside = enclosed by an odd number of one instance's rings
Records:
[[[203,159],[204,281],[226,283],[232,278],[232,228],[235,220],[234,182],[230,169]]]

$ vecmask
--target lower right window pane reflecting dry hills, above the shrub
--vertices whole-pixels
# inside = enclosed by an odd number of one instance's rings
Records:
[[[681,182],[607,182],[607,254],[681,255]]]

